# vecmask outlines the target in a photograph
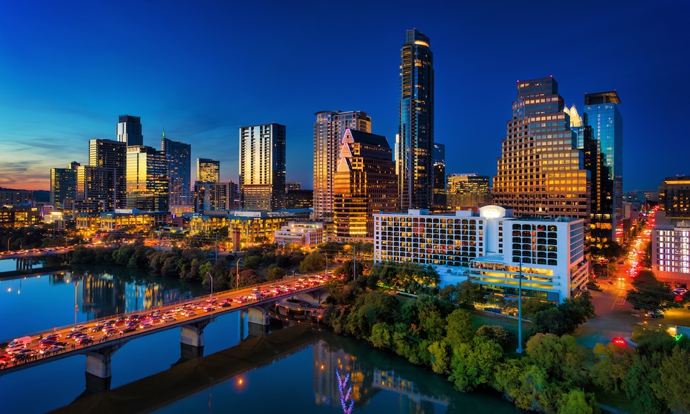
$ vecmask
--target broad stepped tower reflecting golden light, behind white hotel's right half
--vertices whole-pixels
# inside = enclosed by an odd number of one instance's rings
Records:
[[[517,82],[506,130],[493,202],[516,215],[581,218],[589,227],[589,171],[555,79]]]

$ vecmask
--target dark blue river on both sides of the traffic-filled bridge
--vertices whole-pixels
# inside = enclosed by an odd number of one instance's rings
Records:
[[[203,293],[198,285],[105,266],[3,280],[0,340]],[[86,390],[83,355],[0,375],[1,412],[522,412],[493,393],[458,393],[425,368],[325,329],[274,324],[270,331],[257,333],[239,313],[218,317],[204,329],[205,356],[194,359],[181,357],[179,329],[134,339],[112,355],[105,393]]]

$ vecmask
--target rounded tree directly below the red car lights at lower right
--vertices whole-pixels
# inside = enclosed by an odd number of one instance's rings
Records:
[[[589,376],[596,386],[604,391],[618,393],[626,373],[633,365],[634,348],[610,344],[596,344],[594,346],[596,361],[589,371]]]

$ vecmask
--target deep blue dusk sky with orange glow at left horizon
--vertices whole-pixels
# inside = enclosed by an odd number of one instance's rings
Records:
[[[50,189],[119,115],[217,159],[237,182],[239,127],[286,126],[286,181],[313,188],[313,124],[363,110],[391,148],[406,30],[431,38],[446,174],[493,176],[516,81],[553,76],[582,114],[616,90],[623,188],[690,175],[690,2],[7,1],[0,13],[0,187]],[[193,172],[192,181],[195,179]]]

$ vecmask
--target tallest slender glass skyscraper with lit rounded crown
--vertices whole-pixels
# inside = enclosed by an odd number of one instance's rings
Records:
[[[396,173],[400,209],[429,208],[433,201],[433,53],[429,38],[408,30],[400,49],[400,124]]]

